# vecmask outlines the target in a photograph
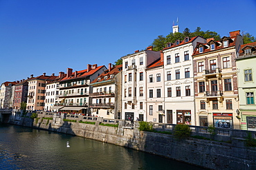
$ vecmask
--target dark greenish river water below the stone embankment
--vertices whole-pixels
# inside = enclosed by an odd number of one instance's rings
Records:
[[[0,123],[0,169],[202,168],[104,142]]]

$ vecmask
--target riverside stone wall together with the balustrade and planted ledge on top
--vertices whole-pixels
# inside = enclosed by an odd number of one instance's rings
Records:
[[[190,126],[191,137],[176,140],[172,124],[154,123],[154,130],[162,132],[154,133],[139,131],[136,121],[44,111],[37,111],[37,118],[28,117],[12,113],[8,123],[109,142],[208,169],[256,169],[256,148],[246,146],[248,132],[255,138],[255,131]]]

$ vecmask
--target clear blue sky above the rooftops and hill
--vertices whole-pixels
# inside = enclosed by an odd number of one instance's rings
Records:
[[[108,65],[158,35],[196,27],[256,36],[255,0],[0,0],[0,83]]]

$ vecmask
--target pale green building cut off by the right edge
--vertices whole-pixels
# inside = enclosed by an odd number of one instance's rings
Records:
[[[256,42],[241,45],[236,62],[241,129],[256,131]]]

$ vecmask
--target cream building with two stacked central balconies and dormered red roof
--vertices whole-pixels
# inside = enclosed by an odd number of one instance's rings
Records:
[[[196,125],[240,129],[237,66],[239,31],[220,41],[199,43],[193,54]]]

